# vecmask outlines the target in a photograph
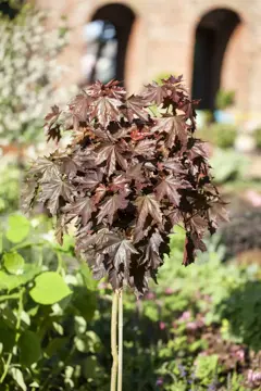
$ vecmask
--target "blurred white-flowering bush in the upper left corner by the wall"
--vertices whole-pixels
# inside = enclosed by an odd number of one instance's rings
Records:
[[[17,8],[13,16],[0,14],[0,144],[20,147],[42,135],[50,93],[57,101],[67,101],[66,89],[57,88],[64,75],[58,56],[67,35],[64,21],[61,27],[47,29],[46,13],[29,4]]]

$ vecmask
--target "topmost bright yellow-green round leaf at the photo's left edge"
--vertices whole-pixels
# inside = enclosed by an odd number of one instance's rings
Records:
[[[5,236],[12,243],[18,243],[28,236],[30,224],[26,217],[12,215],[9,217],[8,224],[9,228]]]

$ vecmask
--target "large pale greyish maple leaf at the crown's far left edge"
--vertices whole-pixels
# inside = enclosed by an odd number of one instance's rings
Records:
[[[60,209],[60,197],[65,201],[71,201],[74,188],[67,181],[63,180],[60,175],[52,173],[46,179],[40,180],[39,202],[46,203],[50,213],[54,216]]]

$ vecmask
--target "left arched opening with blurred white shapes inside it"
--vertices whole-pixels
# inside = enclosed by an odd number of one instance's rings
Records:
[[[96,11],[84,30],[86,83],[96,79],[107,83],[112,78],[124,83],[125,58],[134,21],[134,12],[123,4],[107,4]]]

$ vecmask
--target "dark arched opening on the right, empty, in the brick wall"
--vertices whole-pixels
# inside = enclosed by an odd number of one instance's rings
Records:
[[[239,23],[234,11],[216,9],[204,14],[196,28],[192,96],[201,99],[199,109],[215,109],[224,54]]]

